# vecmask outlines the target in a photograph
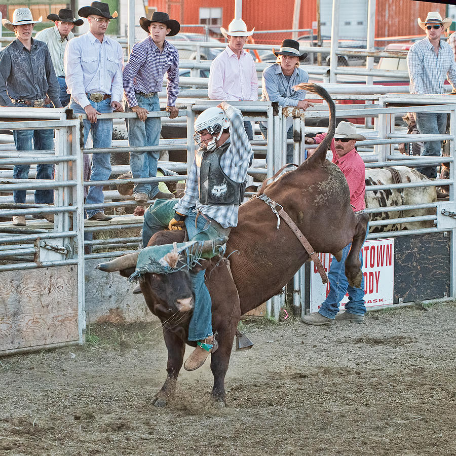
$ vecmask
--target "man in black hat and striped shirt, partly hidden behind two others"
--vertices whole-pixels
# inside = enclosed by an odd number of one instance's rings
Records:
[[[51,54],[52,64],[60,85],[60,101],[62,106],[69,103],[70,95],[66,92],[65,68],[63,66],[63,55],[66,44],[74,38],[71,31],[75,25],[82,25],[82,19],[76,19],[71,10],[61,9],[59,14],[49,14],[48,19],[55,22],[54,27],[45,28],[35,35],[36,40],[43,41],[48,45]]]

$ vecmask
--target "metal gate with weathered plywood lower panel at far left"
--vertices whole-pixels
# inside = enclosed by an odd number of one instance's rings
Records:
[[[84,248],[80,123],[62,109],[0,108],[0,130],[55,129],[55,150],[13,151],[0,144],[0,169],[50,164],[54,180],[0,178],[0,218],[27,217],[27,226],[0,222],[0,355],[82,344]],[[5,137],[2,138],[5,140]],[[33,170],[31,172],[33,174]],[[14,204],[13,191],[54,189],[54,205]],[[32,221],[54,214],[54,224]]]

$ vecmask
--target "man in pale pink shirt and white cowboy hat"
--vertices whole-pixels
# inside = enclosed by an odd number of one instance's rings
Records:
[[[209,73],[207,94],[211,100],[256,101],[258,99],[258,77],[252,56],[244,51],[247,31],[242,19],[233,19],[228,30],[220,27],[222,35],[228,40],[226,48],[215,57]],[[249,139],[253,139],[250,122],[244,122]]]

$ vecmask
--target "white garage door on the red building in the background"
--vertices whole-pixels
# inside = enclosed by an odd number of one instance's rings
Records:
[[[331,36],[332,0],[321,0],[321,34]],[[339,1],[339,38],[366,39],[367,0]]]

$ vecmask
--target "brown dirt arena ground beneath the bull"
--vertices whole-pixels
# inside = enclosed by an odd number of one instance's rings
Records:
[[[244,324],[255,346],[233,351],[224,409],[209,363],[150,405],[166,366],[155,327],[92,326],[84,347],[1,358],[0,454],[456,454],[454,302],[364,325]]]

